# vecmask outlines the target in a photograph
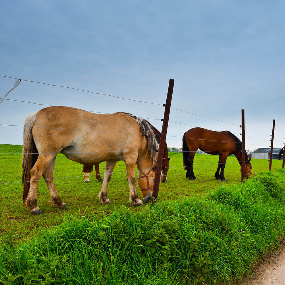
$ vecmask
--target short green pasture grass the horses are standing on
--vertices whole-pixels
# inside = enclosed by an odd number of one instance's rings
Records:
[[[0,184],[9,182],[21,182],[21,153],[20,145],[0,145]],[[211,192],[217,186],[240,184],[240,166],[235,157],[228,157],[225,178],[226,183],[216,181],[214,173],[217,168],[218,157],[215,155],[196,155],[194,160],[194,172],[197,181],[189,181],[185,177],[186,171],[182,166],[181,153],[169,153],[170,169],[168,171],[167,183],[161,184],[159,189],[159,200],[174,201],[189,199],[192,196],[203,196]],[[252,171],[254,174],[268,170],[269,161],[262,159],[252,160]],[[197,165],[195,167],[195,165]],[[199,165],[199,166],[198,166]],[[280,168],[282,161],[273,161],[272,170]],[[100,165],[100,173],[104,172],[104,163]],[[91,183],[84,183],[82,165],[66,159],[59,154],[55,163],[55,178],[68,176],[80,176],[76,178],[56,179],[55,187],[61,199],[67,204],[65,211],[50,207],[49,191],[44,181],[38,185],[38,206],[43,215],[32,216],[22,206],[22,184],[0,185],[0,234],[18,234],[28,239],[44,228],[60,224],[66,214],[82,216],[92,214],[101,218],[102,211],[111,208],[130,207],[132,211],[141,211],[141,208],[130,206],[129,184],[126,181],[126,173],[115,174],[115,172],[126,171],[124,162],[117,163],[109,182],[107,195],[111,205],[102,206],[97,201],[97,196],[102,182],[97,182],[95,176],[90,176]],[[95,175],[95,173],[93,173]],[[136,174],[137,176],[137,174]],[[103,177],[103,175],[102,175]],[[139,197],[142,197],[137,187]]]

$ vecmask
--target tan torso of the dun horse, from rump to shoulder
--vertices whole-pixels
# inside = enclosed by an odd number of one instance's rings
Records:
[[[38,111],[32,135],[39,152],[63,152],[82,164],[122,160],[126,150],[138,151],[143,145],[140,128],[129,115],[63,106]]]

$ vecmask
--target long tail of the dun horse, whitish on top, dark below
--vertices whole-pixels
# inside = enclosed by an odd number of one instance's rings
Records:
[[[28,197],[30,189],[30,170],[38,159],[38,150],[34,143],[32,136],[32,126],[36,121],[36,115],[38,112],[30,113],[25,120],[24,133],[23,133],[23,154],[22,154],[22,182],[23,182],[23,200],[24,203]]]

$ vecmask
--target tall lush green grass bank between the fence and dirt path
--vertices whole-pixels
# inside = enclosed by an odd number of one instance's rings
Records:
[[[284,236],[284,182],[265,172],[136,213],[67,216],[16,246],[2,236],[0,284],[231,283]]]

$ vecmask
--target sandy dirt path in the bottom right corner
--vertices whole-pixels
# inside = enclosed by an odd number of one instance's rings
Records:
[[[250,278],[240,285],[285,285],[285,242],[282,248],[259,262]]]

